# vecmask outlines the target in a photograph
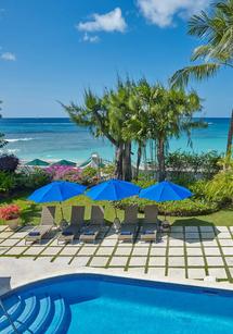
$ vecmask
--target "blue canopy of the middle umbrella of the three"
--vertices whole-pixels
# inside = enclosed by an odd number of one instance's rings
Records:
[[[92,187],[87,196],[94,200],[121,200],[139,195],[140,190],[139,186],[130,182],[109,180]]]

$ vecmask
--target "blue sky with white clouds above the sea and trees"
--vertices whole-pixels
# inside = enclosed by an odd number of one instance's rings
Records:
[[[210,0],[211,1],[211,0]],[[167,84],[199,41],[187,20],[209,0],[0,0],[0,100],[4,117],[67,116],[59,101],[102,94],[117,75]],[[192,83],[206,116],[229,116],[231,70]]]

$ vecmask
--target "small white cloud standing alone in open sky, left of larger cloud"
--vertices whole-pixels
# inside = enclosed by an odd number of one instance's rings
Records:
[[[91,21],[80,22],[77,25],[77,28],[80,32],[119,32],[124,33],[127,28],[127,24],[125,18],[122,17],[122,13],[120,8],[116,8],[115,10],[106,13],[106,14],[92,14]]]

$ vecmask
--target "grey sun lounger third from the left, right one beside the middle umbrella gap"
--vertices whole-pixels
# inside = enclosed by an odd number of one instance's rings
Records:
[[[91,207],[90,224],[85,227],[79,236],[82,243],[94,242],[104,224],[104,209],[100,206]]]

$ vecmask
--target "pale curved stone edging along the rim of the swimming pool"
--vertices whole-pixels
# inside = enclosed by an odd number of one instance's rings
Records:
[[[142,273],[129,273],[125,272],[124,274],[121,272],[117,273],[116,271],[111,271],[111,269],[98,269],[98,268],[79,268],[74,269],[74,268],[57,268],[57,270],[49,270],[47,268],[46,270],[42,270],[40,274],[36,271],[34,271],[33,268],[30,268],[30,275],[25,274],[23,277],[18,277],[17,273],[14,275],[8,275],[5,272],[5,275],[1,274],[0,277],[0,285],[1,284],[1,279],[9,279],[9,282],[11,284],[8,287],[4,287],[3,285],[0,286],[0,296],[3,296],[4,294],[23,287],[24,285],[36,283],[38,281],[43,281],[47,279],[53,279],[53,277],[59,277],[59,276],[64,276],[64,275],[70,275],[70,274],[99,274],[99,275],[105,275],[105,276],[116,276],[116,277],[121,277],[121,279],[132,279],[132,280],[143,280],[143,281],[148,281],[148,282],[158,282],[158,283],[170,283],[170,284],[177,284],[177,285],[183,285],[183,286],[192,286],[192,287],[206,287],[206,288],[216,288],[216,289],[221,289],[221,290],[233,290],[233,284],[231,283],[222,283],[222,282],[207,282],[207,281],[196,281],[196,280],[176,280],[176,279],[170,279],[166,276],[155,276],[151,274],[142,274]]]

